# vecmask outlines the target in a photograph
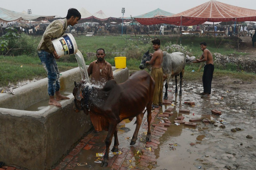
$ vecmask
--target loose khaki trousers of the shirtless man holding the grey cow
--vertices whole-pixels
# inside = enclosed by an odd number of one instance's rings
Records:
[[[155,80],[153,104],[163,104],[163,70],[162,68],[151,68],[151,77]]]

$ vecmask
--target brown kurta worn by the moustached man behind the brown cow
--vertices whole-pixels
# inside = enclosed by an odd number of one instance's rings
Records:
[[[102,71],[100,71],[97,61],[98,60],[91,62],[87,69],[88,75],[91,75],[91,82],[102,84],[106,83],[108,80],[114,79],[111,64],[104,60]],[[102,131],[108,129],[109,122],[107,122],[106,118],[91,111],[89,111],[89,114],[95,130]]]

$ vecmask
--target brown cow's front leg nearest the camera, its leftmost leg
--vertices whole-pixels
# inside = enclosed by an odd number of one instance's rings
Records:
[[[108,160],[109,160],[109,147],[111,145],[112,137],[113,137],[113,134],[116,131],[116,129],[117,129],[117,123],[113,122],[112,124],[109,125],[109,131],[108,131],[107,137],[105,139],[106,152],[105,152],[105,155],[103,156],[103,160],[102,160],[102,163],[101,163],[102,167],[107,166],[107,163],[108,163]]]

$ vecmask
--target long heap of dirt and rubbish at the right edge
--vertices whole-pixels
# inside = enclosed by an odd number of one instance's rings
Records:
[[[246,71],[249,73],[256,73],[256,60],[251,58],[241,58],[241,57],[230,57],[224,56],[220,53],[214,53],[215,63],[226,66],[227,64],[235,64],[238,71]]]

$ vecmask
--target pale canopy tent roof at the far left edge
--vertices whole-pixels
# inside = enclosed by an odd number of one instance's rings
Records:
[[[22,12],[15,12],[11,10],[7,10],[0,7],[0,22],[7,23],[12,21],[41,21],[41,20],[51,20],[54,16],[47,15],[32,15],[32,14],[24,14]]]

